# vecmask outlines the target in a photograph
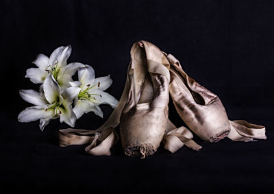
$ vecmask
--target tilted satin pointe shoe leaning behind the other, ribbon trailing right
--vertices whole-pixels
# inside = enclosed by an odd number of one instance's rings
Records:
[[[166,57],[171,63],[169,93],[179,116],[192,132],[210,142],[218,142],[226,136],[233,141],[266,138],[262,125],[229,121],[219,97],[189,77],[174,56]]]

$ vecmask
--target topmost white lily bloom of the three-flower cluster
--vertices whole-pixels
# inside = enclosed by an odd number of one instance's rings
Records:
[[[33,62],[38,67],[27,69],[25,77],[29,77],[34,84],[42,84],[47,75],[52,73],[60,88],[64,90],[70,86],[69,82],[73,82],[71,76],[75,74],[77,69],[83,67],[83,64],[79,62],[66,65],[66,60],[71,56],[71,50],[71,46],[58,47],[49,58],[39,54]]]

